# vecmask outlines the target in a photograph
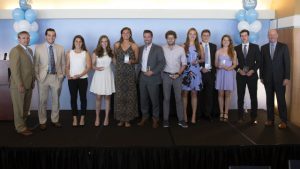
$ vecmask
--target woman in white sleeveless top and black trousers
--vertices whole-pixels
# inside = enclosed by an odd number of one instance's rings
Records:
[[[71,107],[73,115],[73,127],[78,126],[77,116],[80,116],[80,126],[84,126],[86,115],[88,88],[88,72],[91,68],[91,57],[86,49],[84,38],[76,35],[73,39],[72,50],[66,54],[66,76],[68,78],[71,95]],[[79,92],[81,111],[77,109],[77,95]]]

